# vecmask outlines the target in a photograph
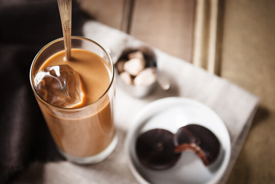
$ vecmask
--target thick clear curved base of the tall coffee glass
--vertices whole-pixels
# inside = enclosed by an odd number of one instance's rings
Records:
[[[118,140],[119,140],[118,133],[116,133],[116,135],[114,135],[113,140],[109,144],[109,146],[105,150],[103,150],[102,152],[94,156],[76,157],[63,152],[59,148],[58,150],[61,153],[61,155],[63,155],[68,161],[71,161],[77,164],[95,164],[95,163],[101,162],[113,152],[114,148],[116,148],[118,144]]]

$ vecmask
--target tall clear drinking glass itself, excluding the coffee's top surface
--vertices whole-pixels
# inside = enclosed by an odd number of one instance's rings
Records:
[[[31,87],[60,153],[79,164],[97,163],[110,155],[118,142],[113,124],[114,66],[108,52],[93,40],[73,36],[73,48],[93,52],[103,59],[110,83],[99,99],[82,107],[64,108],[38,95],[34,78],[45,60],[64,50],[63,38],[48,43],[35,56],[30,70]]]

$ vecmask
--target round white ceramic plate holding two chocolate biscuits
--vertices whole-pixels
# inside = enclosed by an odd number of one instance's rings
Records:
[[[198,124],[210,129],[219,139],[221,152],[212,165],[205,167],[191,152],[183,152],[170,169],[153,171],[142,166],[135,153],[135,142],[141,133],[163,128],[176,133],[177,129]],[[231,155],[228,131],[219,116],[209,107],[191,99],[170,97],[145,106],[133,119],[125,140],[129,167],[140,183],[217,183],[224,174]]]

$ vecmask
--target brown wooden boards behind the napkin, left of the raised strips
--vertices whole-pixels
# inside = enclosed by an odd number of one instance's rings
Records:
[[[84,11],[103,24],[191,62],[195,1],[81,0],[80,3]],[[131,20],[127,21],[129,17]]]

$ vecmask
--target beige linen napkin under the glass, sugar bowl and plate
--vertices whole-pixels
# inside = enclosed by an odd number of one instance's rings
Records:
[[[109,49],[117,61],[123,49],[139,47],[143,42],[96,21],[88,21],[83,27],[85,37],[93,39]],[[148,46],[148,45],[147,45]],[[173,45],[171,45],[173,47]],[[144,99],[127,95],[119,86],[116,89],[114,120],[119,129],[119,144],[103,162],[80,166],[69,162],[34,163],[18,180],[21,183],[137,183],[127,166],[124,137],[135,114],[146,104],[164,97],[192,98],[211,107],[224,121],[231,137],[232,156],[230,164],[219,183],[230,174],[241,146],[249,131],[259,99],[228,82],[209,74],[201,68],[152,48],[157,56],[160,70],[172,82],[168,91],[156,88]],[[18,181],[17,181],[18,182]]]

